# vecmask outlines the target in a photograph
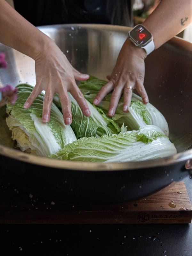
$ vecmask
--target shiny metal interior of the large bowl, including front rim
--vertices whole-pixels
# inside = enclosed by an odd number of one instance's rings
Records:
[[[60,47],[80,72],[106,79],[127,38],[129,27],[95,24],[42,26],[39,29]],[[0,69],[0,86],[19,83],[35,85],[35,63],[28,56],[0,44],[7,68]],[[0,154],[20,161],[68,170],[132,170],[180,163],[191,158],[191,43],[173,38],[146,59],[144,85],[149,101],[165,116],[169,137],[177,154],[163,159],[127,163],[76,163],[32,156],[14,149],[10,132],[1,113],[4,133],[0,135]]]

